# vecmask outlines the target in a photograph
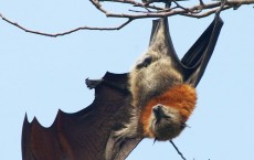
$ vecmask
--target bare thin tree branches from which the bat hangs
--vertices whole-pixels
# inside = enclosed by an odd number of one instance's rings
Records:
[[[177,2],[177,0],[172,0],[173,7],[171,8],[161,8],[158,6],[158,3],[152,4],[152,3],[142,3],[138,2],[136,0],[89,0],[93,6],[99,10],[102,13],[104,13],[107,18],[125,18],[127,19],[126,22],[118,26],[78,26],[68,31],[64,31],[61,33],[45,33],[45,32],[40,32],[35,30],[30,30],[21,24],[13,22],[9,20],[8,18],[3,17],[0,13],[0,18],[6,21],[7,23],[14,25],[25,32],[33,33],[33,34],[39,34],[39,35],[45,35],[45,36],[62,36],[66,34],[71,34],[73,32],[77,32],[81,30],[105,30],[105,31],[112,31],[112,30],[120,30],[121,28],[126,26],[128,23],[130,23],[134,20],[137,19],[147,19],[147,18],[163,18],[163,17],[172,17],[172,15],[183,15],[183,17],[190,17],[190,18],[205,18],[209,17],[213,13],[215,13],[220,7],[221,7],[221,1],[212,1],[210,3],[204,3],[203,0],[197,0],[197,4],[192,7],[183,7],[180,4],[180,2]],[[158,1],[158,0],[157,0]],[[102,3],[123,3],[123,4],[128,4],[134,8],[140,8],[144,9],[144,11],[137,11],[137,10],[131,10],[129,9],[127,12],[121,12],[121,13],[116,13],[116,12],[110,12],[107,9],[103,7]],[[182,2],[184,3],[184,2]],[[254,4],[254,0],[226,0],[224,6],[221,8],[221,11],[229,10],[229,9],[237,9],[239,7],[243,4]]]

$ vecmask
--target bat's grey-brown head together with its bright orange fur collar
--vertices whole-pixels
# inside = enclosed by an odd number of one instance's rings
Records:
[[[157,140],[177,137],[184,129],[195,104],[195,89],[186,84],[151,98],[141,111],[144,136]]]

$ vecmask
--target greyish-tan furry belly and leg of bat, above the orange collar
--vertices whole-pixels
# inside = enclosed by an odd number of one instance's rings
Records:
[[[146,61],[148,58],[149,61]],[[129,89],[135,107],[142,107],[151,97],[183,82],[181,73],[173,64],[174,58],[178,57],[169,34],[167,18],[157,20],[154,22],[147,52],[129,74]]]

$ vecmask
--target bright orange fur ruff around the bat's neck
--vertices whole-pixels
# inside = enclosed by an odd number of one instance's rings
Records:
[[[158,104],[177,109],[181,115],[182,122],[186,122],[195,107],[197,93],[190,85],[181,84],[176,85],[163,94],[150,99],[142,108],[140,117],[145,136],[152,137],[152,132],[149,131],[149,122],[152,107]]]

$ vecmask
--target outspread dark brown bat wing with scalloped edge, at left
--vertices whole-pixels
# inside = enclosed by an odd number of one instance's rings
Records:
[[[127,85],[128,74],[103,77]],[[124,160],[141,139],[120,139],[114,131],[128,122],[129,93],[106,83],[95,87],[95,99],[74,114],[59,110],[53,125],[44,128],[25,116],[22,130],[23,160]]]

